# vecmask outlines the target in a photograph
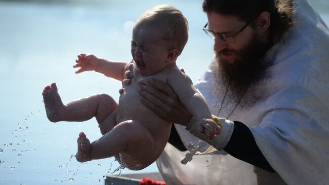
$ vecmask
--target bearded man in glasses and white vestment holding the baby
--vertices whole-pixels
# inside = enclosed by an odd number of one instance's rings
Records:
[[[182,165],[179,150],[203,137],[169,86],[144,87],[146,106],[183,125],[157,161],[167,184],[329,183],[329,34],[321,18],[306,0],[204,0],[202,8],[216,57],[196,87],[225,119],[207,141],[217,151]]]

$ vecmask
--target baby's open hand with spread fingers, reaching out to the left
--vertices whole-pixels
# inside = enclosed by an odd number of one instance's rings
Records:
[[[98,58],[92,54],[80,53],[75,62],[76,64],[73,67],[80,67],[75,73],[96,70],[98,66]]]

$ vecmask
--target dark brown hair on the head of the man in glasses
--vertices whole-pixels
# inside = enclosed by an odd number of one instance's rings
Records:
[[[237,16],[244,21],[268,12],[271,16],[270,42],[273,44],[280,41],[294,23],[293,0],[203,0],[202,9],[206,13]]]

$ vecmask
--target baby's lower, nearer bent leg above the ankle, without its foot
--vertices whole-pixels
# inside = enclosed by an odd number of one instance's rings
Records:
[[[92,142],[91,159],[109,158],[119,153],[132,156],[131,162],[150,165],[156,159],[155,139],[139,122],[129,120]]]

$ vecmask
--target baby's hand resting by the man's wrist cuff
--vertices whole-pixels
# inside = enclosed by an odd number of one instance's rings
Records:
[[[204,134],[209,140],[212,140],[216,135],[221,133],[221,127],[211,118],[203,118],[198,123],[198,131]]]

